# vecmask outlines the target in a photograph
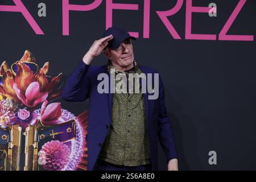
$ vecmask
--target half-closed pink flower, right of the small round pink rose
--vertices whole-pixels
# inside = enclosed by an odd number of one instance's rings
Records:
[[[44,125],[54,125],[61,116],[61,105],[60,102],[54,102],[46,107],[47,104],[48,101],[45,100],[41,107],[40,118]]]

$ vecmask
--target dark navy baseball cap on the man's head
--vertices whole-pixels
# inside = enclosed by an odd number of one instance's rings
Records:
[[[123,28],[120,27],[110,27],[108,28],[104,34],[102,35],[102,38],[105,36],[113,35],[113,39],[109,40],[109,44],[107,47],[110,47],[112,49],[116,49],[120,46],[120,44],[123,42],[123,40],[127,38],[131,38],[133,40],[136,40],[133,36],[130,36],[130,34]]]

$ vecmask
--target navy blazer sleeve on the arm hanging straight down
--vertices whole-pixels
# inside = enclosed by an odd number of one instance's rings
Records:
[[[166,105],[164,103],[164,86],[159,76],[159,103],[160,111],[158,115],[158,138],[164,153],[166,154],[167,163],[171,159],[177,159],[176,144],[172,125],[167,115]]]

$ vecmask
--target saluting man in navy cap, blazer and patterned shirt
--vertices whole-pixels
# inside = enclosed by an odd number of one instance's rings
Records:
[[[90,98],[86,135],[88,170],[157,170],[157,138],[167,156],[168,170],[177,170],[176,147],[164,104],[162,80],[157,80],[159,88],[155,89],[159,90],[159,97],[154,100],[148,99],[151,93],[142,93],[140,84],[139,93],[129,92],[131,85],[125,88],[127,92],[99,91],[98,76],[102,73],[108,78],[112,74],[124,76],[115,80],[114,86],[130,74],[158,75],[154,69],[137,64],[131,39],[135,40],[123,28],[108,28],[68,77],[62,97],[73,102]],[[90,67],[91,61],[102,51],[109,59],[108,64]]]

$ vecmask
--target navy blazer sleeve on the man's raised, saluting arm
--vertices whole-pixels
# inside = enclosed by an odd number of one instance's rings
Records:
[[[90,65],[80,61],[75,70],[68,76],[61,97],[65,101],[82,102],[89,97],[90,82],[88,69]]]

